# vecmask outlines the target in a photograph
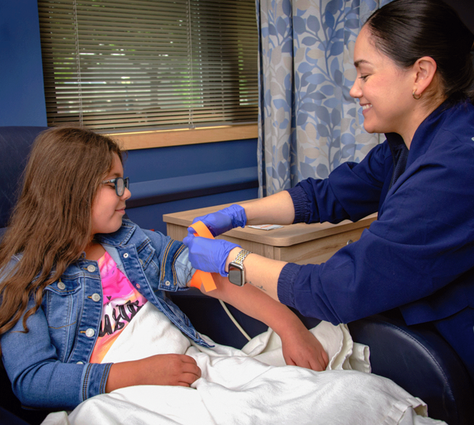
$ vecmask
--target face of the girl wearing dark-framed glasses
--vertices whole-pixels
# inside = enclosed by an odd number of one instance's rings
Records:
[[[114,154],[112,169],[103,180],[123,177],[123,167],[117,154]],[[92,235],[112,233],[122,225],[125,214],[125,201],[130,198],[130,190],[125,188],[118,197],[113,183],[101,184],[92,201]]]

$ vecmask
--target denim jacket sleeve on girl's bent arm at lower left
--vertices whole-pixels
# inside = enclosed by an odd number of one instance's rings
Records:
[[[28,307],[33,304],[30,302]],[[76,364],[58,360],[51,344],[42,308],[22,319],[1,337],[2,361],[13,393],[22,405],[51,410],[72,410],[82,401],[105,392],[111,363]]]

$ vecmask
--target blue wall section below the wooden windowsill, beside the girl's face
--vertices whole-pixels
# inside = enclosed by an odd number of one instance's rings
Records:
[[[132,192],[128,205],[145,205],[128,207],[128,217],[166,234],[163,214],[257,198],[256,152],[257,139],[129,151],[124,166]],[[228,181],[233,184],[226,185]],[[182,192],[190,184],[199,196]],[[161,194],[165,201],[146,205],[146,197],[137,199],[143,185],[148,196]]]

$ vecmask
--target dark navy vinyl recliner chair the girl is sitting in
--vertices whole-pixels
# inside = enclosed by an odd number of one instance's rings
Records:
[[[19,193],[19,181],[35,137],[47,127],[0,127],[0,239]],[[219,301],[197,289],[172,294],[196,329],[219,344],[241,348],[245,337],[237,330]],[[267,327],[229,306],[250,336]],[[301,315],[300,315],[301,317]],[[307,327],[319,320],[301,317]],[[474,424],[474,389],[464,364],[429,324],[407,326],[398,309],[349,324],[354,341],[370,347],[372,371],[392,379],[428,404],[430,417],[449,425]],[[0,365],[0,424],[40,424],[48,412],[21,407]],[[16,421],[16,422],[15,422]]]

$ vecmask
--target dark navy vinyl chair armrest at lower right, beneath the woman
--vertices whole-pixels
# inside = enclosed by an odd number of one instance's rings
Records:
[[[474,424],[474,391],[453,348],[430,324],[407,326],[376,315],[349,323],[354,341],[370,347],[372,372],[390,378],[428,404],[449,425]]]

